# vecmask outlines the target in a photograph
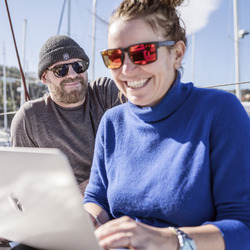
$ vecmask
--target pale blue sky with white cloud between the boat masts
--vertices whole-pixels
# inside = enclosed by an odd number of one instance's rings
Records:
[[[96,1],[97,15],[100,19],[96,19],[95,78],[110,77],[110,72],[100,57],[100,51],[107,48],[107,25],[102,20],[108,21],[111,12],[121,0]],[[183,61],[183,82],[194,80],[195,85],[201,87],[233,83],[235,81],[233,0],[189,0],[189,4],[187,2],[186,0],[184,6],[180,8],[190,34]],[[8,0],[8,5],[22,62],[24,20],[27,20],[24,69],[36,72],[41,46],[50,36],[57,34],[63,0]],[[239,30],[250,31],[249,9],[249,0],[238,0]],[[91,0],[71,0],[70,24],[70,36],[85,49],[93,63]],[[4,1],[0,2],[0,30],[0,64],[4,63],[5,58],[6,66],[18,67]],[[68,34],[67,4],[60,34]],[[192,50],[193,37],[195,37],[194,50]],[[240,80],[250,81],[250,35],[240,39],[239,47]],[[92,65],[89,69],[89,78],[91,76]],[[242,85],[242,88],[250,89],[250,84]]]

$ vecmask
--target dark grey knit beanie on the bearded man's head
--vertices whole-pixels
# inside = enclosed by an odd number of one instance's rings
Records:
[[[89,63],[85,51],[72,38],[65,35],[50,37],[42,46],[39,53],[38,77],[52,64],[72,58],[80,58]]]

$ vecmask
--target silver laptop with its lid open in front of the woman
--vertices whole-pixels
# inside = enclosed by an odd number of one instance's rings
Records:
[[[47,250],[100,250],[68,158],[0,148],[0,237]]]

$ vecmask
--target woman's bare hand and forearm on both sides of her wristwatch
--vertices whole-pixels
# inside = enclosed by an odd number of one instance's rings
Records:
[[[193,238],[197,249],[225,249],[220,230],[214,225],[180,227],[180,229]],[[104,249],[123,247],[134,250],[177,250],[179,248],[178,238],[169,228],[148,226],[127,216],[103,224],[96,229],[95,234]]]

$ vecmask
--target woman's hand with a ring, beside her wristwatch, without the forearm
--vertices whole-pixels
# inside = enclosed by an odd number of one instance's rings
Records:
[[[168,228],[156,228],[124,216],[100,226],[95,234],[105,248],[177,249],[177,237]]]

